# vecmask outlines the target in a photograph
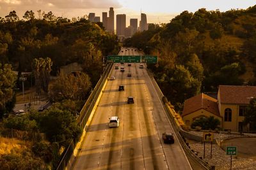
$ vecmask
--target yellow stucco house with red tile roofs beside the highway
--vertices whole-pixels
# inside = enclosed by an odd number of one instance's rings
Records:
[[[255,97],[256,86],[220,85],[217,100],[206,94],[187,99],[182,118],[187,125],[191,125],[198,117],[213,116],[221,121],[225,131],[249,131],[248,125],[243,124],[244,112]]]

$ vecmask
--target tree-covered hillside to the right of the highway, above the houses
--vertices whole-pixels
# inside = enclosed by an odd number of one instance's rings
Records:
[[[151,24],[124,45],[159,57],[158,64],[148,68],[181,111],[185,99],[216,92],[218,85],[255,85],[256,6],[225,12],[183,11],[168,24]]]

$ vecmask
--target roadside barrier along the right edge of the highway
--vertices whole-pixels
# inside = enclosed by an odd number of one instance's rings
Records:
[[[152,78],[152,82],[154,83],[156,90],[157,90],[157,95],[159,95],[161,98],[164,97],[163,95],[163,92],[161,91],[161,89],[159,88],[159,86],[157,85],[156,83],[156,80],[154,80],[154,77],[153,76],[150,76]],[[188,147],[188,145],[186,145],[186,142],[184,141],[184,138],[182,138],[180,132],[182,131],[181,130],[181,127],[180,125],[177,124],[177,120],[176,118],[174,118],[172,115],[172,113],[170,113],[170,111],[174,111],[172,108],[170,108],[170,106],[168,106],[168,104],[164,103],[164,109],[168,112],[169,114],[169,120],[170,120],[170,123],[172,124],[172,127],[173,127],[173,131],[175,132],[179,142],[180,142],[180,145],[182,146],[182,148],[184,149],[184,152],[186,153],[187,156],[189,156],[191,159],[193,159],[194,161],[198,162],[200,164],[200,166],[204,169],[214,169],[214,167],[211,167],[209,164],[207,164],[206,162],[204,162],[204,160],[200,159],[194,152],[192,152],[190,150],[190,148]]]

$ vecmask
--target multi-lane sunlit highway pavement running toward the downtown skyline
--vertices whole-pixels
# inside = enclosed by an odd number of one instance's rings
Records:
[[[122,48],[118,55],[139,53]],[[110,76],[116,80],[109,80],[103,91],[73,169],[191,169],[176,136],[174,144],[163,143],[163,132],[173,129],[147,70],[139,65],[114,64]],[[125,90],[119,92],[119,85]],[[127,104],[128,96],[134,104]],[[120,118],[119,127],[108,127],[111,116]]]

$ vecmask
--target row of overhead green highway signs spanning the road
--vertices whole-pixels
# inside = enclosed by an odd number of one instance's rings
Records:
[[[157,56],[150,55],[108,55],[109,62],[147,62],[157,63]]]

